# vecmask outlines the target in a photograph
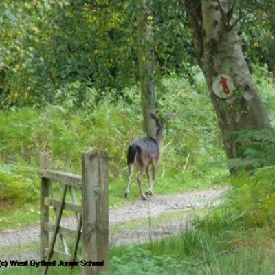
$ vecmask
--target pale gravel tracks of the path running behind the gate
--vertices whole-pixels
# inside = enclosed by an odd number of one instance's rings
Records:
[[[120,225],[126,221],[140,218],[156,217],[160,214],[180,210],[196,209],[217,205],[220,203],[219,195],[227,188],[199,190],[185,192],[178,195],[159,195],[148,197],[147,201],[135,201],[127,203],[121,208],[112,208],[109,211],[109,225]],[[76,220],[73,217],[65,218],[61,225],[67,228],[76,228]],[[126,230],[111,234],[110,245],[120,245],[133,241],[144,242],[152,239],[152,236],[164,236],[165,234],[177,234],[190,225],[189,221],[180,221],[170,224],[168,228],[144,228],[144,230]],[[170,228],[170,229],[169,229]],[[10,245],[23,245],[39,241],[39,225],[32,225],[19,230],[5,230],[0,232],[0,248]],[[1,255],[0,255],[1,256]],[[2,255],[3,256],[3,255]]]

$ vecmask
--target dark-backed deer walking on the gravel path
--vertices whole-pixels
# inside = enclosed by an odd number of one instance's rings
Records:
[[[129,197],[129,188],[133,175],[133,168],[138,166],[139,173],[137,175],[137,184],[140,187],[142,199],[146,200],[146,195],[153,196],[153,186],[155,184],[155,175],[157,173],[157,162],[159,161],[160,148],[162,145],[162,135],[164,132],[165,123],[172,118],[173,113],[168,113],[164,118],[159,119],[155,113],[151,113],[151,118],[156,122],[157,131],[155,137],[144,137],[134,140],[127,151],[127,166],[129,168],[129,179],[126,184],[124,197]],[[153,167],[153,180],[151,180],[150,165]],[[146,171],[148,176],[148,192],[146,195],[142,189],[142,176]]]

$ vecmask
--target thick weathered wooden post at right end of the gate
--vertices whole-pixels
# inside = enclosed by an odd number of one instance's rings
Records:
[[[97,148],[83,153],[83,260],[104,266],[84,267],[85,275],[108,271],[108,155]]]

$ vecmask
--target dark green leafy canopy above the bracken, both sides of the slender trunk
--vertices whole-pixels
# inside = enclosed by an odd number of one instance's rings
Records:
[[[177,1],[166,2],[151,7],[157,71],[188,72],[192,50],[186,14]],[[89,94],[98,102],[111,89],[116,90],[113,100],[127,98],[123,88],[138,80],[135,5],[106,3],[100,8],[101,2],[81,0],[1,1],[1,107],[67,99],[80,107]],[[76,86],[83,89],[76,92]]]

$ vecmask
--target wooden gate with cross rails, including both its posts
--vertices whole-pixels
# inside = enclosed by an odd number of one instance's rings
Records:
[[[41,260],[50,262],[62,259],[85,265],[84,274],[98,274],[108,270],[109,246],[109,211],[108,211],[108,155],[96,148],[83,153],[83,176],[50,169],[49,153],[40,155],[41,168]],[[55,198],[53,184],[61,187],[61,197]],[[66,201],[67,190],[71,202]],[[82,190],[80,203],[75,189]],[[50,222],[50,208],[54,210],[55,221]],[[61,225],[63,210],[74,212],[76,229]],[[50,234],[52,232],[52,234]],[[71,250],[65,236],[74,239]],[[60,238],[63,251],[56,250],[56,239]],[[76,259],[78,244],[83,241],[82,259]],[[83,262],[80,262],[83,260]],[[93,266],[94,264],[101,266]],[[91,264],[91,265],[89,265]],[[102,265],[103,264],[103,265]],[[43,275],[47,274],[48,266],[43,267]],[[61,267],[64,268],[64,267]]]

